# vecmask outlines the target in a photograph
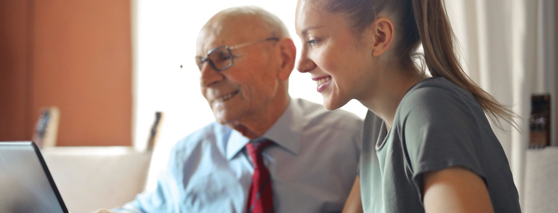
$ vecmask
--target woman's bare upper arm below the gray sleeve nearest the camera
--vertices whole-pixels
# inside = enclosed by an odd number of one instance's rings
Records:
[[[423,184],[427,213],[494,212],[482,178],[463,167],[427,172]]]

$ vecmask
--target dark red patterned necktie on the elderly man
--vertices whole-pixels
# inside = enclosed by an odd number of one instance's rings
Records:
[[[247,213],[273,213],[273,195],[271,190],[271,175],[263,164],[262,150],[272,144],[265,141],[258,144],[246,144],[246,150],[254,165],[254,175],[252,184],[248,190],[248,202],[246,205]]]

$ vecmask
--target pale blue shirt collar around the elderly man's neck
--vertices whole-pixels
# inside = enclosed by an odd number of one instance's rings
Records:
[[[298,154],[302,138],[302,116],[302,108],[300,105],[297,105],[296,100],[291,99],[281,117],[277,119],[266,133],[254,139],[254,141],[267,138],[292,154]],[[250,139],[233,129],[227,142],[227,159],[229,161],[233,159],[248,142],[250,142]]]

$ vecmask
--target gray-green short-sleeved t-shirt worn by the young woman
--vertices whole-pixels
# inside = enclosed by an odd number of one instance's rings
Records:
[[[424,212],[422,175],[455,166],[483,178],[494,212],[521,212],[508,160],[483,109],[445,78],[409,89],[389,133],[382,119],[368,112],[363,134],[364,212]]]

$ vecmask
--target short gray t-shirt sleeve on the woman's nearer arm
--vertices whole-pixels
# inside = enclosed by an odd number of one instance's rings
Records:
[[[410,91],[411,92],[411,91]],[[464,167],[484,180],[477,119],[480,106],[472,95],[451,88],[418,88],[401,105],[402,143],[415,186],[423,193],[425,172]],[[475,114],[476,113],[476,114]],[[396,118],[397,119],[397,118]]]

